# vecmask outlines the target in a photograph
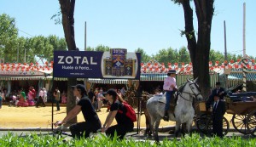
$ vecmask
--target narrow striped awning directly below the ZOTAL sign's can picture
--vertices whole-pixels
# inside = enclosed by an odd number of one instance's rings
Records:
[[[99,84],[128,84],[127,79],[99,79],[99,78],[89,78],[88,82],[99,83]]]

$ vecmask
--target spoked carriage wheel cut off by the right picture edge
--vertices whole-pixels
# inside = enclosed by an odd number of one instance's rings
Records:
[[[256,110],[253,110],[247,116],[247,129],[254,137],[256,136]]]

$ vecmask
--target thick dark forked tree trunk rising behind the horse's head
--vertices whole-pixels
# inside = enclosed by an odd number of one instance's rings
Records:
[[[183,0],[185,32],[188,41],[190,59],[193,64],[194,78],[198,77],[202,95],[207,98],[210,89],[209,54],[211,46],[211,29],[214,0],[194,0],[195,12],[198,19],[198,39],[195,41],[193,25],[193,10],[189,0]]]

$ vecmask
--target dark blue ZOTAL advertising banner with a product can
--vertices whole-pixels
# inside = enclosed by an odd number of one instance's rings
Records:
[[[55,51],[53,76],[139,79],[140,53],[113,48],[110,52]]]

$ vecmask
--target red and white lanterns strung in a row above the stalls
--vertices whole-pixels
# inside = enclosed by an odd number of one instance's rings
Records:
[[[15,63],[6,63],[0,64],[0,71],[52,71],[53,70],[53,61],[44,62],[43,65],[39,65],[38,62],[33,64],[15,64]],[[214,72],[216,69],[221,70],[224,68],[230,68],[234,71],[239,71],[243,68],[241,64],[241,59],[237,59],[235,62],[233,59],[228,61],[224,61],[224,63],[219,64],[219,61],[216,61],[214,64],[212,61],[209,61],[209,71]],[[168,63],[165,65],[164,63],[159,63],[157,61],[151,60],[148,63],[141,63],[141,72],[142,73],[167,73],[169,70],[176,70],[179,74],[191,74],[193,72],[193,66],[190,62],[189,64],[185,63]],[[248,71],[256,71],[255,60],[251,59],[247,64]]]

